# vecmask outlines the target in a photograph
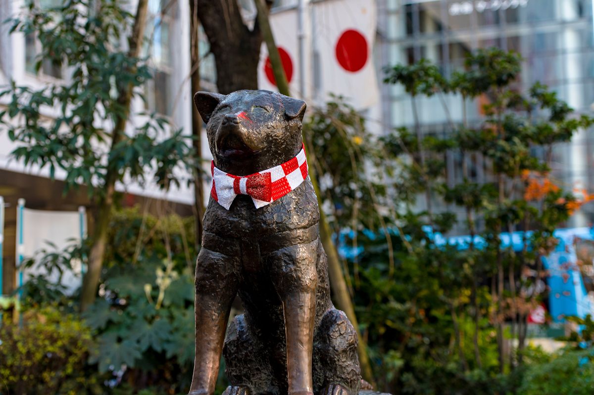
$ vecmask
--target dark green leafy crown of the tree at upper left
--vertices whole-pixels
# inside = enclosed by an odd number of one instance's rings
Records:
[[[99,8],[97,8],[99,7]],[[50,176],[64,170],[67,187],[89,187],[101,198],[108,173],[116,180],[143,183],[147,174],[161,187],[179,184],[176,166],[191,165],[187,138],[157,114],[135,114],[141,120],[108,146],[118,119],[127,117],[122,97],[135,94],[151,78],[145,59],[128,56],[122,45],[132,15],[119,0],[64,0],[53,8],[34,2],[13,18],[11,32],[34,34],[42,50],[36,68],[51,60],[68,68],[64,80],[42,88],[17,86],[13,81],[0,97],[8,100],[0,112],[11,141],[11,155],[26,165],[49,168]],[[50,116],[50,117],[48,117]],[[144,120],[142,120],[144,119]]]

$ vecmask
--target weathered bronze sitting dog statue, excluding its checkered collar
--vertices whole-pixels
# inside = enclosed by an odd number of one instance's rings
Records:
[[[301,150],[305,102],[270,91],[198,92],[214,165],[245,176]],[[330,301],[320,211],[309,178],[260,209],[238,195],[210,199],[196,265],[196,355],[191,395],[212,395],[221,352],[228,395],[356,395],[356,332]],[[225,331],[233,298],[245,313]]]

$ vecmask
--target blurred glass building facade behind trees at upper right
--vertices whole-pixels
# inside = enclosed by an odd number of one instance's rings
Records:
[[[449,75],[463,65],[464,56],[470,51],[493,46],[514,50],[524,59],[520,89],[526,91],[540,81],[578,113],[592,114],[593,3],[591,0],[378,0],[376,63],[381,67],[410,64],[425,58]],[[410,97],[403,88],[383,85],[381,92],[384,125],[387,128],[412,126]],[[453,121],[460,122],[461,98],[450,95],[445,101]],[[470,122],[480,119],[478,100],[466,107]],[[419,98],[418,108],[424,133],[445,133],[448,114],[440,98]],[[552,176],[566,190],[594,192],[591,132],[582,130],[570,143],[554,147]],[[461,180],[460,160],[448,155],[449,179]],[[480,155],[468,160],[471,177],[489,181]],[[421,200],[419,203],[423,204]],[[567,226],[590,226],[593,219],[594,208],[586,205]]]

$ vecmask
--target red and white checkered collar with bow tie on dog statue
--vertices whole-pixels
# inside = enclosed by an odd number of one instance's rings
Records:
[[[305,146],[295,158],[249,176],[233,176],[225,173],[214,167],[214,161],[210,168],[213,173],[210,196],[221,206],[229,209],[235,196],[248,195],[258,209],[282,198],[305,180],[307,177]]]

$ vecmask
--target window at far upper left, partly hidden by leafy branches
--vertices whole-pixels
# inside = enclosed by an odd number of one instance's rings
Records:
[[[30,0],[36,8],[49,9],[59,7],[61,0]],[[39,59],[42,53],[42,44],[34,33],[25,35],[25,71],[39,77],[64,78],[62,62],[52,59]],[[38,62],[40,64],[38,65]],[[39,66],[39,70],[37,67]]]

